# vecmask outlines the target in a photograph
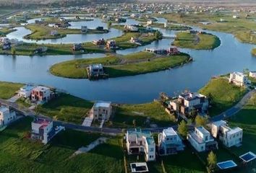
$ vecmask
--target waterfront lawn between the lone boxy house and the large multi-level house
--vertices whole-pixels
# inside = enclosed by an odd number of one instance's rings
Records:
[[[150,102],[140,105],[120,105],[116,107],[116,112],[111,125],[119,128],[133,128],[133,120],[137,127],[148,127],[147,119],[150,124],[166,127],[174,124],[175,117],[168,115],[159,102]]]

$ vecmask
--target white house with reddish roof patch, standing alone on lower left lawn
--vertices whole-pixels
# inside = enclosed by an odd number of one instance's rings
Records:
[[[36,118],[31,123],[31,128],[31,138],[40,140],[44,144],[48,143],[55,134],[54,123],[43,118]]]

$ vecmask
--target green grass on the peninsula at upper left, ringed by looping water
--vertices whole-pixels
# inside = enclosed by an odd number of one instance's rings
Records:
[[[32,33],[30,35],[26,35],[25,38],[33,39],[33,40],[61,38],[61,37],[65,37],[68,34],[82,34],[80,29],[53,28],[53,27],[48,27],[46,25],[37,25],[37,24],[26,25],[26,28],[31,30]],[[56,30],[58,32],[58,35],[51,35],[51,30]],[[106,32],[108,31],[107,30],[103,30],[103,31],[88,30],[86,34],[99,34],[99,33],[106,33]]]

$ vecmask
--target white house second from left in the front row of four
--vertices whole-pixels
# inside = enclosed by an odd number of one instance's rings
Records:
[[[163,129],[163,133],[158,134],[158,151],[160,155],[176,154],[177,151],[184,150],[182,139],[173,128]]]

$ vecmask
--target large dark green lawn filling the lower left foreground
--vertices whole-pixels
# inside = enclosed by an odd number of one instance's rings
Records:
[[[87,154],[70,156],[81,146],[101,137],[98,133],[65,130],[44,146],[25,134],[31,119],[25,117],[0,133],[1,172],[124,172],[123,151],[118,137]]]

